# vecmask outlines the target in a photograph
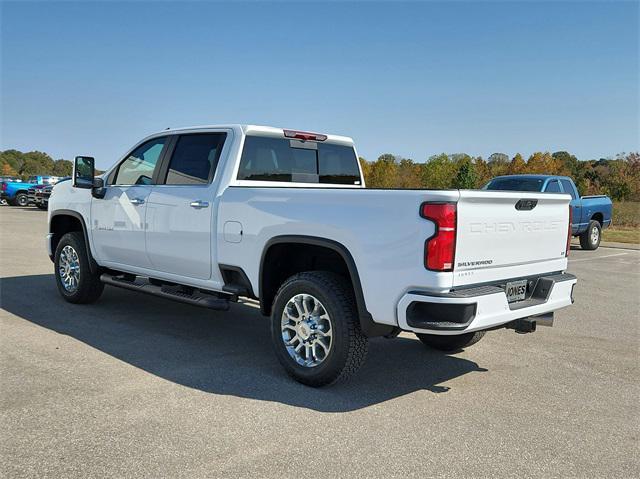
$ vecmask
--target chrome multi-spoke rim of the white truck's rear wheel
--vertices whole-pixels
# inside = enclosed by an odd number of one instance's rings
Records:
[[[327,310],[310,294],[296,294],[282,312],[282,340],[298,364],[312,368],[331,351],[332,326]]]

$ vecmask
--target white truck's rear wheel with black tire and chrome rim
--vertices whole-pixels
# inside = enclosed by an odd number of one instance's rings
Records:
[[[313,387],[354,375],[368,350],[351,285],[327,271],[284,282],[273,303],[271,337],[285,371]]]

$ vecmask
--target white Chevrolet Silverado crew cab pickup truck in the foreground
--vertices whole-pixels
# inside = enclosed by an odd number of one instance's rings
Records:
[[[72,303],[105,284],[217,310],[257,299],[284,369],[322,386],[357,371],[373,336],[456,351],[548,325],[576,283],[569,201],[366,189],[347,137],[169,129],[99,177],[77,157],[50,198],[47,248]]]

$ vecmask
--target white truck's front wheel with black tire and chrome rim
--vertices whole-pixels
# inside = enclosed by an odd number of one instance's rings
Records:
[[[65,234],[55,253],[56,285],[70,303],[88,304],[97,301],[104,289],[100,275],[91,272],[84,235],[80,231]]]

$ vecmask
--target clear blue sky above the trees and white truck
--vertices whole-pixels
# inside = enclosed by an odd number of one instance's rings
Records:
[[[3,3],[1,149],[107,167],[166,127],[361,156],[639,148],[639,3]]]

